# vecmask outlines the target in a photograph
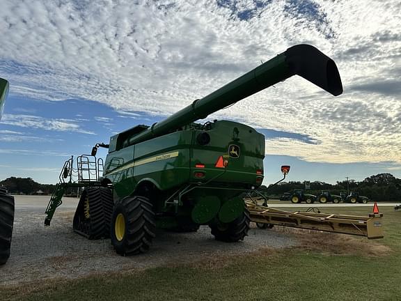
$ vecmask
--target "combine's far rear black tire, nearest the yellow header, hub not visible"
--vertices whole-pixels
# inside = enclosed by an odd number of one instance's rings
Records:
[[[212,235],[216,240],[237,242],[238,240],[244,240],[245,236],[248,235],[250,222],[249,211],[245,209],[244,213],[233,222],[228,224],[213,224],[210,225],[210,229],[212,229]]]

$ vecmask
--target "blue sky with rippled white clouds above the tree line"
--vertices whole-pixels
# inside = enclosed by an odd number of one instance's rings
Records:
[[[401,178],[400,12],[397,0],[1,0],[0,180],[56,183],[70,155],[303,43],[336,61],[342,95],[295,76],[207,119],[265,134],[265,185],[282,164],[288,180]]]

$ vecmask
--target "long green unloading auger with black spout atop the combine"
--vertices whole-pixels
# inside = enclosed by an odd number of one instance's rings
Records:
[[[295,45],[217,91],[195,100],[164,121],[155,123],[134,137],[129,137],[123,142],[123,147],[161,136],[183,125],[206,118],[209,114],[282,82],[292,75],[304,77],[332,95],[343,93],[336,63],[311,45]]]

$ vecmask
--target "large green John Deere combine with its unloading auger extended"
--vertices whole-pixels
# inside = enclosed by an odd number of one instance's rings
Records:
[[[86,189],[74,231],[91,239],[110,236],[122,255],[146,252],[156,228],[196,231],[207,225],[217,240],[243,240],[250,218],[240,196],[262,184],[265,137],[242,123],[195,121],[292,75],[332,95],[343,92],[336,64],[315,47],[296,45],[164,121],[136,125],[111,137],[109,144],[97,144],[92,156],[98,147],[109,149],[104,171],[95,181],[81,177],[77,183]],[[91,166],[85,157],[80,160],[88,162],[81,167]],[[70,164],[64,171],[62,178],[70,178]],[[69,185],[58,185],[46,225]]]

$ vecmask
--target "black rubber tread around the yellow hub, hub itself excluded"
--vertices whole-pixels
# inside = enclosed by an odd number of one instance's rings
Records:
[[[121,200],[118,205],[125,208],[127,233],[124,247],[116,248],[116,251],[127,256],[147,252],[156,236],[152,203],[144,196],[131,196]]]

